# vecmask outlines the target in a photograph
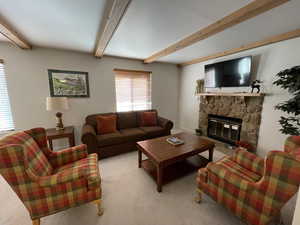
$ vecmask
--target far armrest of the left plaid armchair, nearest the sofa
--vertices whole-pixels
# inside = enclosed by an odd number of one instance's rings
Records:
[[[52,152],[49,161],[53,167],[60,167],[68,163],[86,158],[88,155],[86,145],[77,145],[58,152]]]

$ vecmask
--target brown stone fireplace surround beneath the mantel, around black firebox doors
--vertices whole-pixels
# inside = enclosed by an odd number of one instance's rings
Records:
[[[199,129],[204,136],[211,137],[208,130],[210,115],[235,118],[241,121],[239,139],[251,143],[255,148],[257,147],[264,101],[263,95],[201,96],[200,100]],[[228,128],[228,124],[225,125],[225,128]]]

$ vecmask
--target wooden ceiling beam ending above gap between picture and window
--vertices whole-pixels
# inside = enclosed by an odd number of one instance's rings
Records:
[[[107,0],[104,16],[101,22],[95,56],[101,58],[117,30],[131,0]]]

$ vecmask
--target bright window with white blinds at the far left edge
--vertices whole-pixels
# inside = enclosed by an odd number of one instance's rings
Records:
[[[0,133],[14,130],[3,62],[0,62]]]

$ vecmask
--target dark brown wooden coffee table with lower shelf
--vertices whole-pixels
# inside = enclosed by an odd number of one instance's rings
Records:
[[[173,146],[166,139],[175,136],[184,144]],[[194,134],[179,133],[137,142],[138,165],[156,179],[157,191],[162,191],[164,183],[206,166],[213,160],[215,143]],[[198,154],[209,151],[209,159]],[[148,159],[142,160],[142,153]]]

